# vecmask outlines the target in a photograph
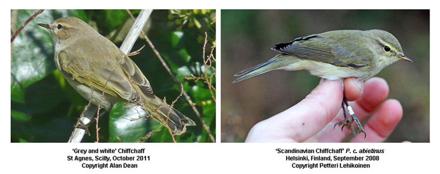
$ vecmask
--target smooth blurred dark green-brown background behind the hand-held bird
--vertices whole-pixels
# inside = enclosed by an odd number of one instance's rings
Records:
[[[295,105],[319,83],[308,71],[271,71],[232,84],[234,74],[278,54],[270,48],[331,30],[381,29],[405,56],[376,76],[403,118],[386,142],[429,142],[429,10],[221,10],[221,142],[243,142],[256,123]],[[337,131],[337,129],[335,130]]]

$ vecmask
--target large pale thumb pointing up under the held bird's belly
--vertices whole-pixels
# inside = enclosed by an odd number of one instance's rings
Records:
[[[334,118],[341,107],[341,101],[341,82],[325,81],[295,106],[255,125],[246,142],[255,142],[260,138],[258,136],[264,136],[266,142],[270,141],[269,139],[303,142]]]

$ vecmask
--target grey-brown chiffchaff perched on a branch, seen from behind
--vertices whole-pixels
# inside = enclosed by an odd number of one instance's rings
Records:
[[[117,102],[135,103],[174,134],[196,125],[155,96],[137,65],[86,22],[65,17],[38,25],[52,35],[58,70],[92,104],[110,110]]]

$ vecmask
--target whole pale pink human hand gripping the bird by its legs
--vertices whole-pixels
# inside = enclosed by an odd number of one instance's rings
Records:
[[[344,119],[341,89],[339,80],[324,80],[295,106],[254,125],[245,142],[344,141],[352,132],[346,127],[341,132],[338,126],[333,130],[334,124]],[[371,78],[364,85],[357,78],[344,79],[344,95],[354,101],[349,104],[361,122],[377,108],[364,125],[367,137],[355,136],[350,142],[383,142],[391,134],[403,109],[395,99],[383,102],[388,92],[388,84],[382,78]],[[358,132],[355,123],[352,127]]]

